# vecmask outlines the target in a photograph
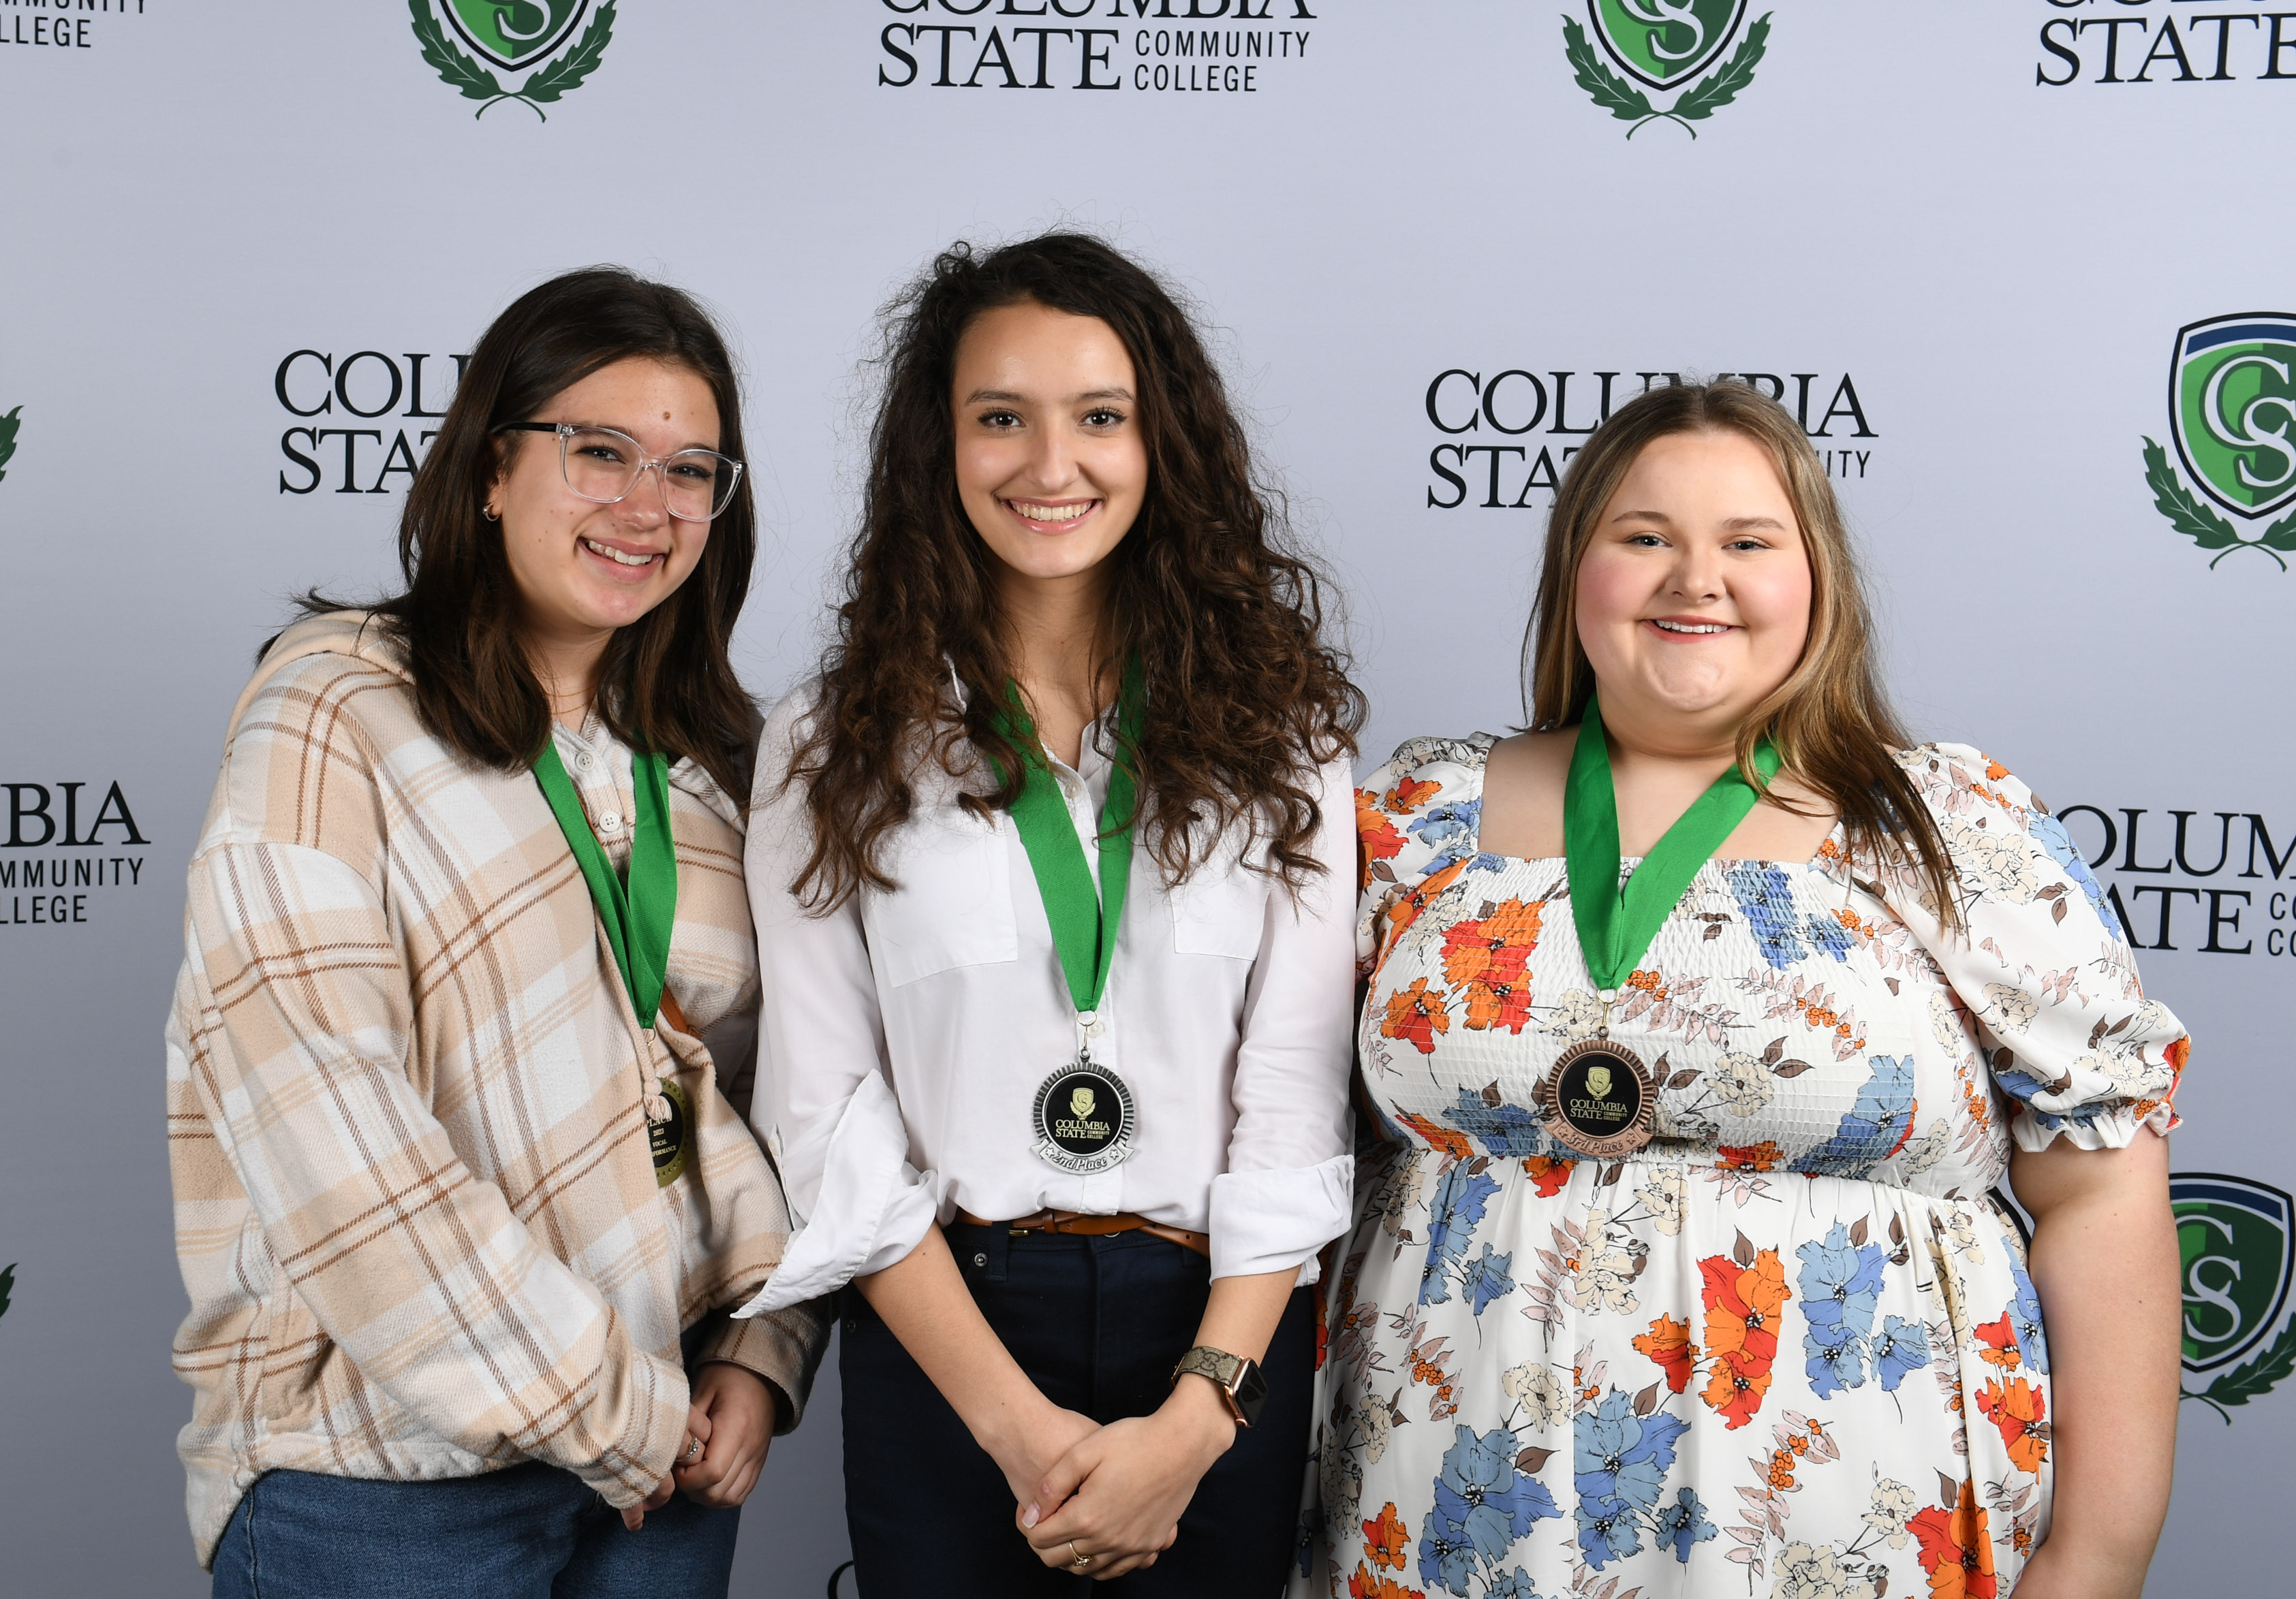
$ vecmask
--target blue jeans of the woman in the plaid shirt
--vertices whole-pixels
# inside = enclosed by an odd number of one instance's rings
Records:
[[[723,1597],[739,1526],[677,1493],[631,1532],[542,1461],[445,1482],[266,1471],[223,1530],[214,1599]]]

